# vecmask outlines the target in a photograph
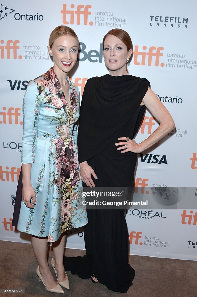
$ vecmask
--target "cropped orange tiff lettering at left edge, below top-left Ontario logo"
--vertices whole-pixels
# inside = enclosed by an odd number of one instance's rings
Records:
[[[1,44],[4,44],[4,40],[0,41]],[[1,50],[1,59],[5,58],[5,52],[6,52],[6,58],[10,59],[10,52],[12,52],[12,57],[13,59],[22,59],[22,56],[17,57],[17,50],[20,49],[20,46],[17,44],[20,43],[19,40],[7,40],[6,45],[0,45],[0,50]]]

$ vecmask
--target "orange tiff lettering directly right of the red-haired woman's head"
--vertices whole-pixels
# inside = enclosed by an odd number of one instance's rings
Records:
[[[151,46],[149,48],[148,52],[140,52],[138,49],[139,49],[138,45],[135,45],[135,48],[134,48],[134,51],[133,51],[133,56],[134,56],[133,62],[134,62],[135,65],[140,65],[140,62],[138,60],[138,56],[141,56],[141,65],[144,66],[145,61],[146,61],[146,56],[148,56],[147,65],[151,66],[152,65],[152,59],[153,59],[153,56],[154,56],[155,57],[155,66],[159,66],[159,59],[160,59],[160,57],[163,56],[163,53],[161,53],[161,50],[164,50],[164,48],[162,48],[162,47],[156,48],[155,46]],[[142,49],[146,50],[147,47],[144,45],[142,47]],[[161,67],[164,67],[164,65],[165,65],[164,63],[160,64]]]

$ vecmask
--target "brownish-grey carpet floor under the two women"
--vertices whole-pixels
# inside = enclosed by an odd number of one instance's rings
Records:
[[[4,289],[23,289],[24,293],[1,293],[0,296],[68,296],[68,297],[190,297],[197,296],[196,261],[173,260],[130,255],[129,263],[136,276],[127,293],[115,293],[104,285],[93,284],[91,280],[80,279],[68,272],[70,290],[64,294],[45,290],[36,275],[37,262],[31,244],[0,241],[1,266],[0,287]],[[66,249],[65,255],[84,255],[84,251]],[[49,261],[53,256],[49,249]],[[50,263],[50,262],[49,262]],[[51,264],[50,264],[51,267]],[[51,268],[55,277],[55,272]]]

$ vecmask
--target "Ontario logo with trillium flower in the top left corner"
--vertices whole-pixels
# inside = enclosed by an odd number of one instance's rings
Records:
[[[8,6],[5,6],[4,4],[1,4],[0,20],[7,17],[14,11],[15,11],[14,9],[12,9]],[[29,13],[22,14],[20,12],[15,12],[14,19],[22,20],[22,21],[29,21],[29,20],[30,21],[42,21],[42,20],[44,20],[44,16],[40,15],[38,12],[36,14],[29,14]]]

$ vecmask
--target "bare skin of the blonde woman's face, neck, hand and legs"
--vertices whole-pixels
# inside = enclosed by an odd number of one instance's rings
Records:
[[[52,47],[48,46],[47,48],[49,51],[49,55],[53,57],[53,68],[60,81],[65,98],[68,100],[67,102],[70,107],[70,90],[67,77],[68,72],[73,68],[77,61],[78,41],[71,35],[63,35],[58,37],[53,42]],[[31,184],[31,164],[22,164],[22,170],[22,200],[25,203],[26,207],[34,208],[34,205],[36,205],[36,195]],[[66,233],[63,233],[57,241],[52,243],[54,252],[54,266],[57,271],[57,278],[59,282],[63,282],[68,278],[65,274],[65,269],[63,266],[65,239]],[[47,261],[47,237],[40,238],[32,236],[31,243],[45,285],[48,287],[48,289],[55,288],[57,286],[57,282],[55,281],[50,271]]]

